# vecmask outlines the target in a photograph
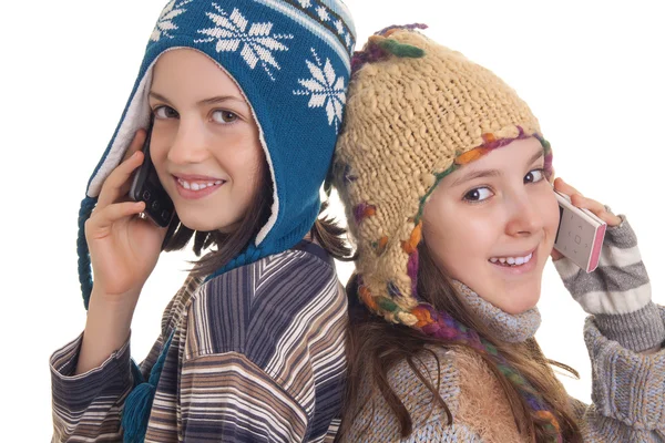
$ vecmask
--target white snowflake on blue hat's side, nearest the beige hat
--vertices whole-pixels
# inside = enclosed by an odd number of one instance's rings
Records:
[[[332,64],[330,64],[330,60],[326,59],[326,63],[324,64],[314,48],[311,49],[311,53],[316,64],[306,60],[311,79],[298,80],[298,83],[305,86],[305,89],[294,91],[294,94],[309,95],[308,106],[311,109],[325,106],[326,114],[328,115],[328,124],[332,125],[335,123],[335,132],[337,133],[346,103],[344,78],[337,76]]]

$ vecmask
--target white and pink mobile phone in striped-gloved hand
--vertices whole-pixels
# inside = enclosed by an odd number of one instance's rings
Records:
[[[554,190],[559,200],[559,229],[554,249],[592,272],[598,266],[607,224],[589,209],[573,206],[571,198]]]

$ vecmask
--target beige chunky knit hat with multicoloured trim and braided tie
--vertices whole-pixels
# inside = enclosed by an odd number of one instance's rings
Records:
[[[493,359],[555,435],[559,423],[549,406],[495,347],[417,292],[421,216],[439,181],[531,136],[543,145],[550,174],[550,145],[515,91],[416,28],[426,27],[380,31],[351,62],[332,181],[357,241],[358,295],[390,322],[466,343]]]

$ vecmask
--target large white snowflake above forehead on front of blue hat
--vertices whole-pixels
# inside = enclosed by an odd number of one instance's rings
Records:
[[[207,12],[206,16],[216,24],[215,28],[201,29],[198,33],[209,35],[207,39],[194,40],[196,43],[217,41],[217,52],[236,52],[243,43],[241,55],[250,69],[260,63],[268,76],[275,81],[273,69],[280,70],[273,52],[288,51],[279,40],[290,40],[291,34],[270,34],[273,23],[253,23],[235,8],[231,14],[224,12],[216,3],[213,7],[218,13]],[[247,29],[249,27],[249,29]]]

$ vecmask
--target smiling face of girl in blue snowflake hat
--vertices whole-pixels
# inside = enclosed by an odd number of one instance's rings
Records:
[[[154,66],[150,106],[151,156],[183,225],[235,230],[267,167],[235,81],[197,51],[172,50]]]

